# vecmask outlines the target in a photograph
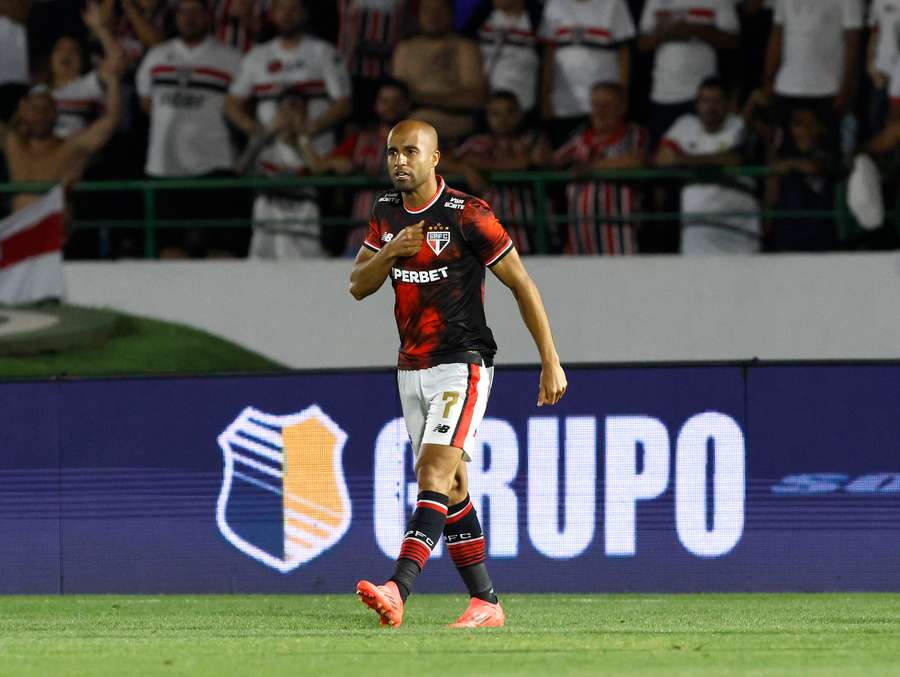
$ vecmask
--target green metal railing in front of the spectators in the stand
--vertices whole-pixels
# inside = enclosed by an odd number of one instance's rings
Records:
[[[650,188],[655,185],[669,184],[678,185],[682,182],[693,183],[725,183],[734,181],[738,177],[752,177],[756,179],[764,179],[769,175],[768,168],[763,166],[743,166],[743,167],[725,167],[725,168],[702,168],[702,169],[630,169],[594,172],[587,176],[579,175],[577,180],[605,180],[605,181],[626,181],[636,186],[648,186]],[[549,246],[549,228],[556,225],[566,223],[569,218],[565,214],[554,214],[550,209],[549,193],[561,184],[569,183],[573,179],[571,172],[498,172],[490,175],[490,181],[497,185],[503,184],[519,184],[529,185],[534,198],[534,218],[528,225],[533,232],[534,250],[538,254],[547,253]],[[448,176],[448,183],[452,185],[464,186],[461,177]],[[47,183],[0,183],[0,194],[15,193],[37,193],[48,190],[52,184]],[[127,181],[83,181],[77,184],[72,190],[75,193],[103,193],[103,192],[129,192],[138,193],[142,196],[143,215],[139,219],[104,219],[90,221],[76,220],[71,224],[72,230],[83,229],[118,229],[118,228],[140,228],[143,231],[144,240],[144,256],[146,258],[156,258],[157,256],[157,233],[161,228],[184,228],[190,226],[196,227],[216,227],[216,228],[248,228],[252,225],[252,218],[249,214],[229,219],[210,219],[206,222],[186,221],[184,219],[163,220],[157,218],[158,207],[162,200],[165,200],[165,194],[170,191],[185,190],[216,190],[216,191],[256,191],[256,190],[273,190],[278,189],[294,189],[302,187],[315,188],[344,188],[344,189],[372,189],[385,188],[389,183],[386,179],[378,180],[369,176],[318,176],[318,177],[286,177],[286,178],[208,178],[208,179],[160,179],[160,180],[127,180]],[[825,211],[759,211],[753,212],[752,216],[761,219],[810,219],[821,218],[834,220],[838,225],[838,232],[843,241],[851,238],[856,232],[856,225],[850,216],[846,206],[845,182],[843,178],[837,182],[837,190],[835,191],[836,200],[834,209]],[[650,200],[646,200],[649,203]],[[894,218],[894,213],[888,215],[889,219]],[[751,216],[751,214],[729,213],[703,213],[703,214],[682,214],[678,212],[651,212],[629,214],[625,217],[604,217],[604,222],[615,222],[617,220],[627,221],[629,223],[646,223],[646,222],[665,222],[678,221],[683,218],[692,216],[710,218],[710,217],[736,217]],[[320,220],[323,227],[346,227],[358,225],[353,219],[348,217],[323,217]]]

